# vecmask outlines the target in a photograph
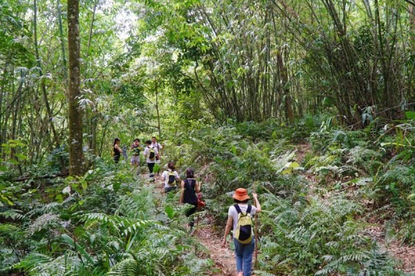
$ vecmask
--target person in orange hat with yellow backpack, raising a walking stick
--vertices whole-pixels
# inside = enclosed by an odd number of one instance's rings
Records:
[[[250,197],[244,188],[238,188],[232,197],[235,204],[230,206],[228,210],[223,246],[226,246],[226,237],[228,237],[230,227],[233,224],[232,235],[235,245],[237,275],[249,276],[251,275],[252,255],[255,250],[252,217],[255,216],[255,213],[261,212],[261,204],[259,204],[256,193],[253,193],[252,197],[257,207],[247,204]]]

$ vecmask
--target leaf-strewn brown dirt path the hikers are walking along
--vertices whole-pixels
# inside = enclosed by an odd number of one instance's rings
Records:
[[[140,173],[140,178],[145,180],[147,185],[154,186],[154,188],[160,192],[160,195],[162,195],[162,197],[164,196],[160,176],[155,176],[154,181],[149,181],[148,173]],[[208,219],[208,221],[203,220],[203,224],[199,224],[199,220],[196,219],[193,236],[196,237],[205,248],[208,248],[210,253],[209,257],[212,259],[215,266],[214,269],[212,269],[212,276],[236,275],[234,253],[230,250],[229,246],[226,246],[225,248],[222,247],[222,239],[219,236],[219,233],[212,229],[210,219]]]

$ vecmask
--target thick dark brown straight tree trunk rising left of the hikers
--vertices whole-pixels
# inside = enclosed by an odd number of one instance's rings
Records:
[[[84,154],[82,151],[82,110],[80,93],[80,31],[79,0],[68,0],[68,124],[69,124],[69,175],[81,175]]]

